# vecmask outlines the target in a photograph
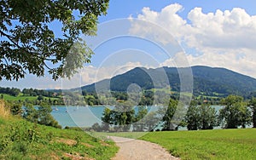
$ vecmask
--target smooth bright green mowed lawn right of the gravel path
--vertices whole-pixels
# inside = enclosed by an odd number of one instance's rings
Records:
[[[140,139],[181,159],[256,159],[256,129],[151,132]]]

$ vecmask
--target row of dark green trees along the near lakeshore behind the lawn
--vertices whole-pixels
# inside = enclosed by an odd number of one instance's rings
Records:
[[[138,106],[137,111],[126,101],[119,103],[113,110],[105,108],[102,115],[102,125],[96,123],[91,129],[96,131],[152,131],[177,130],[186,127],[188,130],[246,128],[253,125],[256,128],[256,98],[244,100],[238,95],[229,95],[222,100],[223,106],[218,111],[203,103],[192,100],[189,106],[170,99],[167,107],[159,107],[150,111],[145,106]],[[184,112],[185,111],[185,112]],[[161,128],[161,129],[160,129]]]

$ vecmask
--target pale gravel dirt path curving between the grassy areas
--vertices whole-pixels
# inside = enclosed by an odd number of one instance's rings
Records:
[[[179,159],[172,157],[163,147],[143,140],[127,139],[122,137],[110,137],[117,146],[119,152],[112,160],[166,160]]]

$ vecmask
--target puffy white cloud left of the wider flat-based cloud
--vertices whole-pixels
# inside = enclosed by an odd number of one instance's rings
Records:
[[[137,15],[138,20],[134,20],[132,23],[130,32],[143,37],[154,36],[157,43],[172,43],[172,36],[182,37],[182,32],[188,31],[190,28],[187,21],[177,14],[182,9],[183,7],[177,3],[166,6],[166,8],[161,9],[160,13],[149,8],[143,8],[142,14]],[[131,17],[129,19],[132,20]],[[169,31],[170,34],[166,35],[166,31]]]

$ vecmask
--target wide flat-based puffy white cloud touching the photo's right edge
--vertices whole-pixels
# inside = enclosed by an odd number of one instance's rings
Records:
[[[244,9],[217,10],[202,13],[201,8],[192,9],[190,34],[183,35],[191,47],[214,49],[256,49],[256,16]]]

